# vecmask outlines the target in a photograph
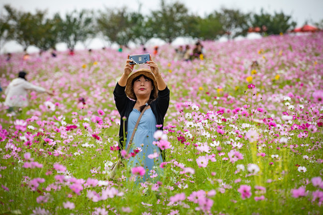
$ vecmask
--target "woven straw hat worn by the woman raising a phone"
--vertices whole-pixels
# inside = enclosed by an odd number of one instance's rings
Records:
[[[158,96],[158,85],[157,85],[157,81],[154,73],[149,69],[140,69],[140,70],[137,70],[136,72],[130,73],[127,79],[126,90],[125,90],[127,96],[131,99],[136,100],[136,95],[132,88],[132,80],[142,74],[145,75],[146,77],[151,78],[154,81],[154,89],[152,90],[151,93],[153,93],[153,97],[154,99],[156,99]]]

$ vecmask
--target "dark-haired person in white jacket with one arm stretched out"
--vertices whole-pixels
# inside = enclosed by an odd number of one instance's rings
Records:
[[[26,107],[28,106],[28,90],[35,90],[37,92],[46,92],[49,95],[53,95],[50,91],[46,90],[41,86],[36,86],[32,83],[29,83],[26,80],[26,72],[21,71],[18,73],[18,77],[13,79],[7,88],[5,89],[5,101],[4,105],[9,107],[9,111],[13,107]]]

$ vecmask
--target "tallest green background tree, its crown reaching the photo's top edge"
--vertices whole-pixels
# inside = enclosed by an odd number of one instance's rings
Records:
[[[180,2],[166,4],[161,0],[159,10],[152,11],[148,18],[147,26],[154,37],[159,37],[167,43],[171,43],[180,36],[185,36],[188,24],[188,9]]]

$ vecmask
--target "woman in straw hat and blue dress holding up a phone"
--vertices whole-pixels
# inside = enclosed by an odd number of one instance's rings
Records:
[[[162,126],[157,128],[156,125],[163,125],[163,119],[169,104],[169,89],[161,77],[158,65],[152,61],[151,56],[150,59],[147,62],[150,69],[132,72],[134,65],[129,64],[132,60],[129,60],[128,55],[124,72],[113,91],[115,104],[121,116],[120,150],[126,150],[128,147],[137,120],[145,109],[135,131],[129,152],[136,148],[141,150],[136,151],[136,156],[131,157],[128,162],[129,166],[142,166],[145,168],[144,181],[148,178],[148,172],[153,170],[154,166],[159,166],[164,160],[164,151],[161,151],[153,142],[156,141],[154,139],[156,130],[162,130]],[[124,140],[124,133],[126,140]],[[159,154],[158,157],[154,159],[148,158],[148,155],[155,152]]]

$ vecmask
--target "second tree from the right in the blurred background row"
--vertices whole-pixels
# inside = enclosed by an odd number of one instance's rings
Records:
[[[228,39],[247,34],[249,13],[242,13],[238,9],[221,8],[220,12],[215,11],[214,17],[222,24],[222,34],[226,34]]]

